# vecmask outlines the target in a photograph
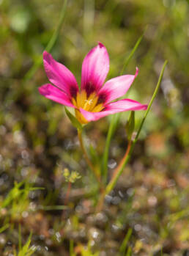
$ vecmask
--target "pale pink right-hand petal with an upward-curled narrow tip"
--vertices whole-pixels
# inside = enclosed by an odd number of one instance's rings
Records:
[[[108,103],[111,100],[122,97],[130,88],[130,85],[133,83],[137,75],[138,67],[136,67],[136,74],[134,76],[118,76],[105,82],[105,85],[100,89],[98,93],[99,99],[102,98],[104,103]]]

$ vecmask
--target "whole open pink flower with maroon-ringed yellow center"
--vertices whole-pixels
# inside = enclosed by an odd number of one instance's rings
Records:
[[[108,114],[121,111],[145,110],[136,100],[116,98],[125,95],[138,75],[124,75],[112,78],[103,83],[109,70],[109,57],[102,43],[92,48],[84,58],[81,73],[81,89],[73,73],[64,65],[56,62],[51,54],[44,51],[43,62],[45,72],[52,84],[44,84],[39,88],[40,94],[46,98],[70,106],[75,109],[75,117],[81,123],[99,120]]]

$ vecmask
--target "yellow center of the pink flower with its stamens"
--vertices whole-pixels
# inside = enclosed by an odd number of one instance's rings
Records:
[[[83,89],[81,92],[77,92],[76,98],[72,98],[73,105],[77,107],[75,109],[75,117],[81,123],[87,123],[88,121],[79,111],[79,108],[90,112],[99,112],[103,110],[103,103],[98,103],[98,96],[96,92],[92,92],[88,97],[86,91]]]

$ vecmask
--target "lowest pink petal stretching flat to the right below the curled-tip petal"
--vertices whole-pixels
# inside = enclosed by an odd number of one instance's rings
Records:
[[[89,112],[84,109],[80,109],[81,114],[86,118],[88,121],[96,121],[99,120],[102,117],[108,116],[109,114],[115,114],[122,111],[129,111],[129,110],[146,110],[147,105],[142,105],[136,100],[119,100],[116,102],[109,103],[105,106],[104,111],[100,112]]]

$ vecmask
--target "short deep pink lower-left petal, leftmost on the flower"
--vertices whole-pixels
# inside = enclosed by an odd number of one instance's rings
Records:
[[[62,92],[60,89],[54,87],[52,84],[44,84],[42,87],[39,87],[39,92],[41,95],[45,96],[46,98],[56,101],[64,106],[73,106],[73,103],[70,102],[70,98]]]

